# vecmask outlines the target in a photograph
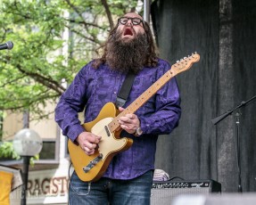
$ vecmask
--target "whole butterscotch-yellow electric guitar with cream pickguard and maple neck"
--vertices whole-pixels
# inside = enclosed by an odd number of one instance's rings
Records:
[[[185,57],[183,60],[177,61],[171,66],[161,78],[159,78],[152,86],[150,86],[143,94],[141,94],[134,102],[132,102],[124,111],[117,111],[112,102],[108,102],[103,106],[95,120],[87,122],[82,126],[87,132],[102,136],[98,148],[95,153],[88,156],[83,149],[72,141],[68,142],[71,162],[78,174],[78,177],[85,182],[95,182],[103,176],[108,168],[112,158],[119,152],[128,150],[133,140],[130,138],[120,138],[119,119],[128,113],[134,113],[145,102],[147,102],[153,94],[161,89],[171,78],[178,73],[188,70],[194,62],[200,60],[200,55],[194,53]]]

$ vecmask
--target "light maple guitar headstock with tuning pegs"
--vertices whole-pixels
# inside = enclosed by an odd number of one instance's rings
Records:
[[[175,74],[183,72],[191,68],[194,62],[200,60],[200,55],[198,53],[192,53],[192,55],[184,57],[180,61],[177,61],[174,65],[171,66],[171,71]]]

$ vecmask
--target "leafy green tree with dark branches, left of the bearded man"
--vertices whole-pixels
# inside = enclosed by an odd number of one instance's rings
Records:
[[[78,70],[95,56],[104,37],[138,0],[1,0],[0,110],[45,115]],[[39,106],[41,105],[41,106]],[[43,106],[42,106],[43,105]]]

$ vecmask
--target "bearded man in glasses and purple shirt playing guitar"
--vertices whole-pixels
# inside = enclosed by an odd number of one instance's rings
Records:
[[[71,160],[76,160],[79,165],[82,158],[94,156],[81,168],[74,166],[70,178],[71,205],[150,204],[158,135],[169,134],[178,126],[180,118],[176,78],[171,78],[136,111],[126,108],[138,98],[143,100],[141,94],[169,69],[169,63],[156,56],[148,23],[140,15],[130,12],[111,30],[102,57],[84,66],[62,94],[55,109],[55,120],[62,128],[62,134],[68,136],[81,153]],[[117,121],[112,119],[111,123],[120,127],[117,129],[120,139],[125,136],[133,143],[125,151],[102,154],[103,150],[115,146],[105,143],[113,130],[109,121],[104,125],[103,120],[107,117],[105,111],[102,114],[102,109],[107,102],[117,101],[128,73],[134,73],[135,78],[127,101],[119,108],[120,114],[124,114],[119,115]],[[85,124],[99,121],[97,124],[103,132],[98,132],[99,127],[95,125],[94,131],[82,126],[78,119],[81,111],[84,111]],[[98,120],[99,116],[103,120]],[[103,155],[111,156],[110,160]],[[94,175],[103,160],[107,161],[106,166],[99,171],[100,175],[96,175],[96,180],[85,180],[83,175]]]

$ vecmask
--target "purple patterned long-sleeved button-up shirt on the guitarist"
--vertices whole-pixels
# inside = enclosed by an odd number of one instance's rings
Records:
[[[169,69],[169,63],[159,59],[156,68],[141,70],[134,79],[128,101],[123,107],[134,102]],[[78,112],[85,109],[85,122],[93,121],[105,103],[116,102],[124,79],[125,74],[110,70],[107,65],[95,70],[90,62],[82,68],[62,94],[55,109],[55,120],[62,128],[62,134],[75,141],[85,131],[78,119]],[[169,134],[177,127],[181,114],[176,78],[171,78],[135,114],[140,119],[143,135],[130,135],[124,130],[121,132],[120,136],[130,137],[134,143],[127,151],[114,156],[103,176],[131,179],[154,168],[158,135]]]

